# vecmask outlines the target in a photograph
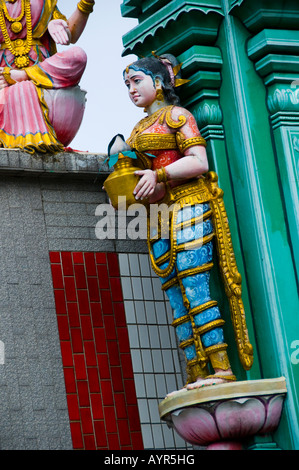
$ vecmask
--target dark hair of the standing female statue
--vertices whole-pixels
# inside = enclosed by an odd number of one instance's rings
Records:
[[[160,59],[169,60],[172,64],[172,67],[178,65],[177,59],[171,54],[163,54]],[[171,82],[170,73],[167,66],[160,59],[154,55],[150,57],[143,57],[142,59],[136,60],[130,64],[128,68],[136,71],[140,70],[141,72],[150,75],[153,79],[154,86],[155,80],[157,78],[160,79],[165,101],[169,104],[178,105],[180,103],[180,99],[176,94],[175,88]],[[179,74],[177,77],[179,78]]]

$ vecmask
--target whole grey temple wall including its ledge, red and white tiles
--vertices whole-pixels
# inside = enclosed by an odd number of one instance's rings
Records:
[[[186,448],[158,415],[183,378],[145,242],[96,236],[101,159],[0,151],[3,450]]]

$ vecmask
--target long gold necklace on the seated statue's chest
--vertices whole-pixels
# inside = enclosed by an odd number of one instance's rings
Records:
[[[24,17],[24,14],[26,17],[27,38],[26,40],[16,39],[15,41],[12,41],[7,31],[5,17],[10,23],[12,23],[11,30],[17,34],[23,29],[20,20]],[[17,18],[12,18],[9,15],[4,0],[0,0],[0,29],[2,31],[7,49],[9,49],[9,51],[15,57],[14,62],[16,67],[19,69],[27,67],[29,65],[28,53],[30,52],[32,46],[32,20],[30,0],[22,0],[21,14]]]

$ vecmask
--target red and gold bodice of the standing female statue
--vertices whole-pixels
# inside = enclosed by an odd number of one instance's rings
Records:
[[[177,161],[188,147],[205,144],[193,116],[182,114],[174,119],[173,109],[166,106],[142,119],[127,141],[137,152],[154,155],[149,157],[153,170]]]

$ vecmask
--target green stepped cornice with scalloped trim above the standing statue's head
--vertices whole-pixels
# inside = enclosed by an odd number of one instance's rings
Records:
[[[214,44],[223,20],[221,0],[213,2],[142,2],[125,0],[122,15],[136,17],[139,25],[123,37],[124,55],[167,51],[178,55],[194,44]]]

